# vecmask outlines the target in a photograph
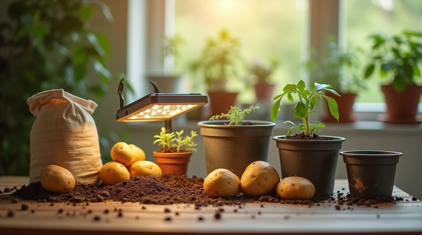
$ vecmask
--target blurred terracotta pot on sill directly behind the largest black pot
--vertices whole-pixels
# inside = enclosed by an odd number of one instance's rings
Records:
[[[211,104],[211,116],[227,113],[230,106],[235,106],[238,93],[225,91],[209,91],[208,97]]]

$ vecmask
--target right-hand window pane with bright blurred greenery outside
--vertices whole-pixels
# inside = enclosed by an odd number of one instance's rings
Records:
[[[373,33],[396,34],[403,30],[422,30],[421,0],[345,0],[346,42],[369,52]],[[362,56],[362,76],[368,56]],[[375,76],[374,76],[375,75]],[[385,83],[374,73],[368,80],[368,91],[362,91],[358,102],[384,102],[380,85]]]

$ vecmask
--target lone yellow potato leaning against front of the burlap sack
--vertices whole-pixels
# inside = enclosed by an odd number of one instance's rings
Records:
[[[75,187],[75,178],[66,168],[48,165],[41,171],[40,181],[43,188],[50,192],[66,193]]]

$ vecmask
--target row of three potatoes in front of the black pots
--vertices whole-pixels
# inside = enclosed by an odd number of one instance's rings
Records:
[[[276,169],[264,161],[251,163],[241,179],[226,169],[216,169],[204,181],[204,190],[212,198],[234,197],[239,189],[249,197],[277,193],[283,199],[309,199],[314,196],[314,185],[302,177],[286,177],[280,181]]]

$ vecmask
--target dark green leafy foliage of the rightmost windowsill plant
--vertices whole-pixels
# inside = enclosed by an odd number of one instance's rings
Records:
[[[373,74],[375,67],[379,67],[381,78],[387,79],[397,92],[421,82],[422,32],[404,31],[391,36],[373,34],[369,38],[373,46],[365,78]]]

